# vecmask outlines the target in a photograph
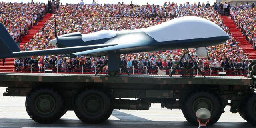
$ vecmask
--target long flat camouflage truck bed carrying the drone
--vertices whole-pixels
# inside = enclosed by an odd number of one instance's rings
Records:
[[[244,76],[194,76],[172,77],[168,75],[119,75],[106,74],[52,74],[52,73],[0,73],[0,86],[6,82],[92,82],[131,84],[210,84],[210,85],[251,85],[253,80]],[[4,84],[5,83],[5,84]]]

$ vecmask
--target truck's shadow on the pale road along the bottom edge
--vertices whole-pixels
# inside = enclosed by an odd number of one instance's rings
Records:
[[[57,127],[57,128],[197,128],[186,121],[151,121],[114,110],[113,116],[120,120],[107,120],[102,124],[85,124],[80,120],[63,119],[53,124],[39,124],[32,119],[0,118],[0,128]],[[247,122],[217,122],[210,128],[254,128]]]

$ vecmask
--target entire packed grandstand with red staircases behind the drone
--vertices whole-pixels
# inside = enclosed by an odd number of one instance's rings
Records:
[[[25,11],[26,10],[26,11]],[[218,46],[208,47],[208,55],[198,58],[195,49],[188,49],[198,67],[206,75],[227,72],[229,75],[246,75],[248,59],[256,59],[256,8],[250,6],[231,6],[226,3],[177,4],[165,2],[162,5],[123,4],[65,4],[54,3],[18,4],[1,2],[0,21],[6,26],[22,51],[56,48],[49,43],[55,38],[56,19],[57,36],[72,32],[82,34],[100,30],[140,29],[172,20],[182,16],[198,16],[220,26],[230,40]],[[204,26],[202,26],[204,27]],[[120,63],[133,74],[168,74],[178,63],[184,49],[129,53],[120,56]],[[145,65],[145,60],[150,65]],[[65,58],[61,55],[28,56],[26,58],[8,58],[0,66],[0,72],[44,72],[53,69],[62,73],[95,73],[107,56],[77,56]],[[185,58],[183,62],[191,61]],[[176,74],[180,74],[182,64]],[[105,66],[102,73],[107,72]],[[123,72],[123,71],[121,71]],[[195,70],[194,74],[198,72]]]

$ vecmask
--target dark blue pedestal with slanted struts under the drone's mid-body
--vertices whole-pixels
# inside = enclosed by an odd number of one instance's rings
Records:
[[[109,76],[116,76],[119,72],[120,69],[122,68],[122,70],[124,70],[124,72],[126,72],[128,75],[130,75],[130,73],[128,72],[128,70],[126,70],[125,67],[123,67],[122,65],[120,65],[120,54],[118,54],[115,51],[110,51],[108,52],[108,62],[104,62],[104,64],[99,68],[99,70],[96,72],[95,76],[100,72],[100,70],[102,70],[102,68],[106,65],[108,65],[108,75]]]

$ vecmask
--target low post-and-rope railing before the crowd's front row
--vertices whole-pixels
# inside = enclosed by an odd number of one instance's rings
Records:
[[[56,65],[54,67],[49,68],[49,67],[46,67],[46,65],[44,65],[42,68],[38,68],[37,66],[32,65],[32,66],[26,66],[26,67],[19,66],[19,68],[17,68],[15,72],[18,72],[18,73],[42,73],[43,72],[43,73],[46,73],[45,72],[46,69],[50,69],[50,70],[52,70],[52,73],[57,73],[57,74],[58,73],[96,74],[96,71],[97,71],[97,68],[95,68],[95,66],[74,67],[71,65],[67,65],[66,68],[63,68],[62,66],[60,67],[60,66]],[[172,72],[173,67],[168,68],[168,69],[160,69],[159,67],[149,67],[148,68],[146,66],[143,66],[143,67],[135,68],[134,66],[132,66],[132,67],[128,67],[127,70],[130,74],[168,75],[170,72]],[[121,68],[120,68],[120,72],[122,74],[125,74],[124,70],[122,70]],[[166,73],[164,74],[163,72],[166,72]],[[187,70],[187,72],[189,72],[189,71]],[[225,70],[224,68],[206,68],[206,69],[202,70],[202,72],[208,76],[216,76],[219,74],[219,72],[222,72],[222,73],[225,72],[227,75],[230,75],[230,76],[245,76],[248,74],[248,70],[237,69],[237,68],[232,68],[232,69],[228,69],[228,70]],[[108,73],[107,67],[103,68],[100,71],[100,74],[107,74],[107,73]],[[200,75],[200,73],[196,69],[193,70],[193,74]],[[174,75],[182,75],[182,69],[181,68],[177,69],[175,71]]]

